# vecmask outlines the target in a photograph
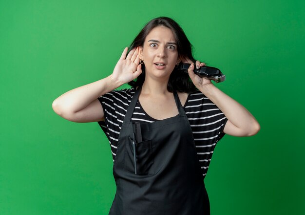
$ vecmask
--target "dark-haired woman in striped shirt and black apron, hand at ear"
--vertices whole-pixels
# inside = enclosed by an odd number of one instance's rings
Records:
[[[216,143],[251,136],[260,125],[246,108],[193,72],[191,43],[172,19],[148,22],[113,73],[59,96],[54,111],[98,122],[114,160],[110,215],[209,215],[204,185]],[[177,65],[191,63],[188,73]],[[131,89],[114,90],[129,83]]]

